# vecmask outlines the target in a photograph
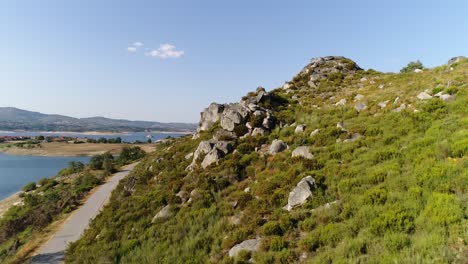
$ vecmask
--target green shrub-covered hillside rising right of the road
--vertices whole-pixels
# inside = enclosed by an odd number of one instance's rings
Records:
[[[332,71],[319,85],[303,71],[289,86],[270,92],[280,103],[265,104],[275,128],[233,139],[235,151],[206,169],[187,171],[186,155],[218,124],[198,139],[160,144],[121,182],[67,261],[468,262],[468,60],[404,74]],[[425,90],[455,99],[418,99]],[[366,108],[357,111],[358,103]],[[304,132],[295,132],[298,124]],[[275,139],[289,148],[265,153]],[[298,146],[313,159],[292,158]],[[284,210],[309,175],[312,197]],[[165,207],[168,215],[154,218]],[[228,256],[253,238],[257,251]]]

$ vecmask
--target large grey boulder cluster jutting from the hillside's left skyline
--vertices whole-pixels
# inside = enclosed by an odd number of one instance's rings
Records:
[[[212,103],[200,115],[197,132],[206,131],[220,122],[221,133],[230,133],[233,137],[262,135],[276,125],[271,109],[260,106],[269,99],[264,88],[244,97],[239,103]]]

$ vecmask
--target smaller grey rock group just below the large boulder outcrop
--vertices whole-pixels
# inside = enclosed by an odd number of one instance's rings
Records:
[[[213,163],[218,162],[218,160],[225,155],[229,154],[232,151],[232,145],[229,141],[220,141],[216,139],[206,140],[198,144],[197,149],[193,155],[188,154],[187,159],[193,157],[192,163],[187,167],[187,171],[192,171],[197,162],[201,160],[201,167],[205,169]]]

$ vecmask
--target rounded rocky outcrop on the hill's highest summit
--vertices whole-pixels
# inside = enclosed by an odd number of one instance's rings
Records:
[[[315,88],[320,81],[326,80],[331,74],[342,73],[344,75],[354,74],[362,69],[352,60],[341,56],[327,56],[314,58],[302,69],[299,76],[306,78],[309,87]],[[284,89],[289,89],[292,83],[283,85]]]

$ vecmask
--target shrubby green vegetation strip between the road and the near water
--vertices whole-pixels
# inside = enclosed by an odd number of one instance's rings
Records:
[[[88,165],[72,161],[56,177],[24,186],[20,194],[22,204],[13,206],[0,218],[0,262],[21,262],[23,256],[14,256],[33,235],[76,209],[82,198],[116,171],[116,167],[144,155],[139,147],[125,147],[117,158],[104,153],[91,157]]]

